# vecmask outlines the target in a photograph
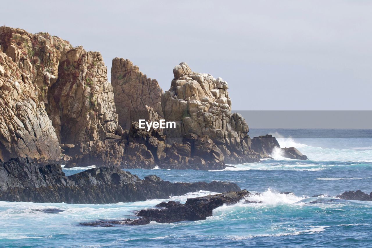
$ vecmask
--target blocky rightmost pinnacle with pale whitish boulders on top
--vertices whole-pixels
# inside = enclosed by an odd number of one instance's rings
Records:
[[[189,133],[207,135],[225,162],[258,161],[246,121],[231,112],[227,83],[211,74],[193,72],[186,63],[174,67],[173,74],[171,87],[161,99],[164,118],[176,122],[175,129],[167,129],[168,141],[180,143]]]

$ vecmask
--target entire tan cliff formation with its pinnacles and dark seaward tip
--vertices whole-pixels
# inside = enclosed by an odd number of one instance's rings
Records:
[[[272,136],[250,139],[221,78],[181,63],[163,93],[129,60],[114,58],[111,72],[112,85],[98,52],[48,33],[1,27],[0,160],[209,170],[268,158],[279,146]],[[147,131],[140,119],[174,121],[176,128]]]

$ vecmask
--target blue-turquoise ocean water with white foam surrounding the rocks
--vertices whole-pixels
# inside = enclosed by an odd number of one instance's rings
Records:
[[[143,178],[156,174],[171,182],[230,181],[262,203],[222,206],[196,222],[92,228],[97,219],[131,217],[133,211],[163,200],[212,194],[190,192],[170,199],[117,204],[0,202],[0,247],[371,247],[372,202],[340,200],[347,190],[372,191],[372,130],[250,130],[250,136],[274,134],[281,147],[294,146],[310,160],[283,158],[235,165],[222,171],[130,169]],[[87,168],[64,169],[71,175]],[[293,194],[281,194],[291,191]],[[320,195],[319,197],[312,197]],[[35,211],[57,207],[65,212]]]

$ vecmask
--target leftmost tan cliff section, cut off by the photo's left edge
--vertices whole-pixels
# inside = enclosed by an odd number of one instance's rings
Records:
[[[49,34],[0,27],[0,48],[0,159],[58,159],[45,96],[70,45]]]

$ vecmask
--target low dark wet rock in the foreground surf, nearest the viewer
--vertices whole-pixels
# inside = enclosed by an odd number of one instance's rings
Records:
[[[142,209],[136,215],[139,219],[99,220],[80,223],[84,226],[146,225],[151,221],[157,223],[174,223],[185,220],[205,220],[212,216],[213,209],[222,205],[232,205],[250,195],[247,190],[231,191],[216,195],[189,198],[185,204],[168,201],[157,204],[153,209]]]

